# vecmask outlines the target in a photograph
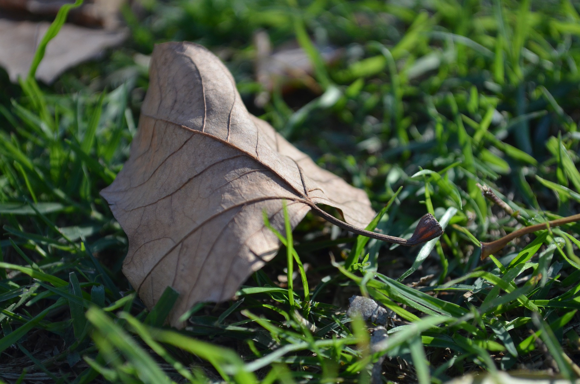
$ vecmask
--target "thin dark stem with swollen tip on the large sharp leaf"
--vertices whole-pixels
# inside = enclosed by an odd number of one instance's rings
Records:
[[[330,213],[322,211],[322,209],[318,208],[316,204],[311,205],[311,207],[314,209],[314,212],[316,212],[318,216],[321,216],[329,223],[335,224],[335,226],[338,226],[352,233],[376,238],[376,240],[392,242],[394,244],[407,245],[410,247],[411,245],[417,245],[422,242],[432,240],[443,234],[443,228],[441,228],[441,225],[437,222],[437,219],[435,219],[431,213],[427,213],[419,220],[419,223],[415,227],[413,236],[407,240],[402,237],[383,235],[381,233],[360,229],[335,218]]]

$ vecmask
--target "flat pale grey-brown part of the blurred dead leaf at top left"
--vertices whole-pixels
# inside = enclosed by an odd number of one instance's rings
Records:
[[[50,23],[0,19],[0,66],[10,81],[26,77],[39,42]],[[59,34],[46,46],[36,78],[50,84],[67,68],[98,56],[103,49],[121,44],[126,29],[113,31],[64,24]]]

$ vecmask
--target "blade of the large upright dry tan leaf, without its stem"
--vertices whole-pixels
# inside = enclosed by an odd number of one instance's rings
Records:
[[[282,201],[295,227],[316,204],[365,227],[364,191],[319,168],[249,114],[227,68],[187,42],[157,45],[131,156],[101,194],[129,238],[125,276],[149,307],[180,292],[169,323],[202,301],[230,299],[274,257]]]

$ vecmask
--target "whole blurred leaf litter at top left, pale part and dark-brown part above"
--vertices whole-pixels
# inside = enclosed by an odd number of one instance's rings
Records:
[[[52,18],[64,3],[60,0],[0,0],[0,66],[8,72],[10,81],[26,77],[39,42],[50,26],[48,21],[23,19]],[[119,17],[121,4],[122,0],[95,0],[72,9],[68,20],[76,24],[64,24],[46,46],[36,78],[51,84],[68,68],[121,44],[128,36]]]

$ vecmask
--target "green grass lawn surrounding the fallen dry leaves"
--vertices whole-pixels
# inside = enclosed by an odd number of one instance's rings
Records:
[[[367,383],[383,354],[387,382],[503,369],[577,378],[580,224],[483,261],[479,242],[579,212],[580,8],[404,4],[151,0],[123,9],[132,37],[122,50],[52,87],[2,73],[0,381]],[[295,84],[253,103],[258,28],[274,46],[302,45],[320,93]],[[195,306],[182,331],[165,327],[176,292],[144,308],[99,190],[128,156],[147,88],[134,54],[175,39],[218,52],[249,110],[365,189],[377,211],[388,202],[378,230],[410,236],[430,212],[444,236],[408,249],[309,215],[278,233],[278,256],[237,299]],[[325,65],[317,47],[328,44],[343,56]],[[293,284],[278,281],[293,271]],[[346,316],[355,294],[392,311],[379,352]]]

